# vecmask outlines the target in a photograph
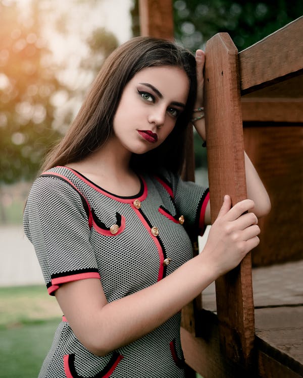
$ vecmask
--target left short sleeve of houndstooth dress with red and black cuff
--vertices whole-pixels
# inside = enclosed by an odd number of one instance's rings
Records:
[[[24,231],[51,295],[63,283],[100,278],[82,201],[75,188],[52,176],[38,177],[27,199]]]

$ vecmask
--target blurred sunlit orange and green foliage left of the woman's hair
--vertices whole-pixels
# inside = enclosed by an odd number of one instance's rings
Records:
[[[117,38],[104,28],[89,35],[77,31],[85,57],[75,51],[77,61],[72,57],[55,64],[45,25],[53,33],[57,29],[61,37],[75,35],[72,13],[87,4],[74,3],[78,8],[64,14],[55,12],[55,2],[32,0],[24,14],[15,1],[0,0],[0,184],[31,180],[37,174],[43,156],[65,132],[104,58],[118,46]],[[49,31],[46,38],[52,38]]]

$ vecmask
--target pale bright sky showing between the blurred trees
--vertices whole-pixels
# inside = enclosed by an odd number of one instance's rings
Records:
[[[2,0],[10,1],[14,0]],[[31,0],[15,1],[23,12],[30,9]],[[133,0],[39,0],[38,4],[45,40],[53,52],[52,61],[61,67],[57,77],[75,91],[72,98],[68,98],[65,91],[53,95],[53,104],[57,107],[53,127],[61,128],[65,113],[76,114],[81,106],[82,97],[77,96],[77,91],[88,88],[94,79],[92,72],[79,68],[81,60],[89,58],[87,37],[92,30],[103,27],[116,36],[119,44],[130,39]],[[64,32],[56,28],[58,22]]]

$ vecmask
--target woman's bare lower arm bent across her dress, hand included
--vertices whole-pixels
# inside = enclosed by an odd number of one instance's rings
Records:
[[[56,298],[81,343],[105,355],[153,331],[259,244],[254,203],[225,196],[203,253],[148,288],[107,302],[98,279],[65,283]],[[102,279],[102,278],[101,278]]]

